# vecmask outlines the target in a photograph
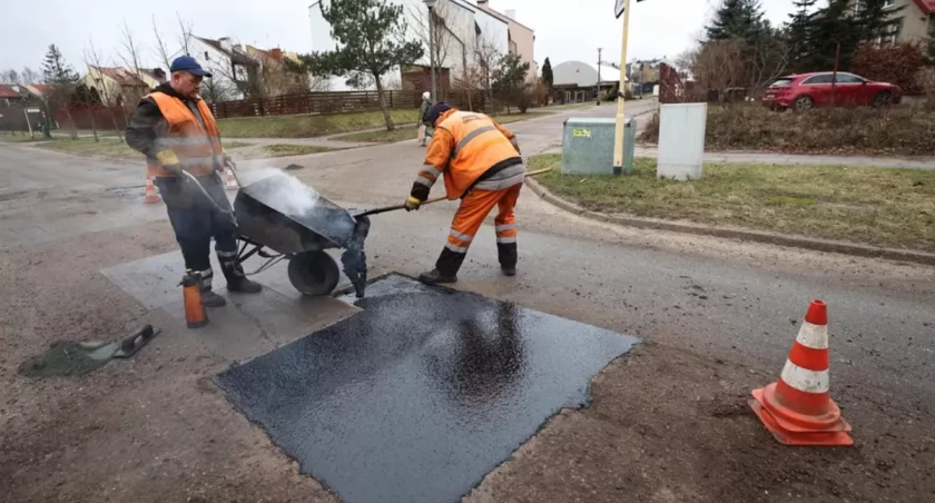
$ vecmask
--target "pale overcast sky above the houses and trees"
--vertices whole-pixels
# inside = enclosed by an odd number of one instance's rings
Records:
[[[473,0],[470,0],[473,3]],[[720,0],[632,1],[628,59],[676,58],[701,33]],[[774,23],[788,19],[793,0],[761,0]],[[142,46],[144,67],[159,61],[155,52],[152,17],[163,37],[177,50],[176,12],[194,24],[200,37],[230,37],[260,48],[307,52],[311,47],[311,0],[46,0],[14,1],[3,10],[0,30],[0,70],[39,70],[50,43],[61,49],[67,62],[85,73],[83,49],[94,39],[106,63],[119,59],[122,23]],[[515,9],[516,19],[535,30],[535,60],[540,67],[570,59],[596,61],[602,47],[606,61],[620,60],[622,22],[613,18],[614,0],[490,0],[501,12]],[[90,7],[94,6],[94,7]],[[588,6],[588,7],[583,7]],[[10,17],[12,17],[10,19]]]

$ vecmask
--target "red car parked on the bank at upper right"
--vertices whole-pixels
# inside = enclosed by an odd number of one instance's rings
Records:
[[[766,89],[762,105],[772,109],[807,110],[831,106],[834,73],[820,71],[779,77]],[[835,106],[883,106],[898,103],[903,98],[899,86],[874,82],[846,71],[837,72]]]

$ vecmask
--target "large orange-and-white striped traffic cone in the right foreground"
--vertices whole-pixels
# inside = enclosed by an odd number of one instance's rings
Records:
[[[830,397],[828,312],[813,300],[779,381],[752,391],[750,407],[779,443],[854,445],[850,425]]]

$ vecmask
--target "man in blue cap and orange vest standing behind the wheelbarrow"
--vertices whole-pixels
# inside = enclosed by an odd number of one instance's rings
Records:
[[[201,302],[219,307],[227,302],[211,289],[211,237],[227,289],[257,293],[262,287],[247,279],[237,259],[237,228],[218,175],[229,158],[220,146],[217,122],[198,96],[201,79],[211,75],[190,56],[176,58],[169,72],[171,79],[137,106],[127,126],[127,144],[146,156],[147,168],[156,176],[185,267],[200,273]],[[225,211],[208,200],[183,170],[194,175]]]

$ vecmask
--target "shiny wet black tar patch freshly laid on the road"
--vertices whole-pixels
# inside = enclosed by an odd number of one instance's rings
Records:
[[[638,343],[398,275],[367,290],[361,313],[217,376],[351,503],[457,501]]]

